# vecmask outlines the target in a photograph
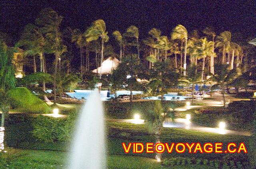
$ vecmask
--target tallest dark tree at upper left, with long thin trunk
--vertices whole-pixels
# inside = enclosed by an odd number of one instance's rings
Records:
[[[62,16],[59,16],[57,12],[50,8],[43,9],[40,12],[39,18],[36,19],[41,32],[46,39],[46,52],[54,53],[54,103],[56,103],[57,94],[57,71],[58,71],[58,61],[62,53],[67,49],[66,45],[62,44],[62,33],[60,32],[60,23],[62,22]]]

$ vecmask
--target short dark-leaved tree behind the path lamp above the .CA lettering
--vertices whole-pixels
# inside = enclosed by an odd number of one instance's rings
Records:
[[[227,88],[228,84],[235,79],[237,72],[236,72],[236,69],[229,70],[228,65],[224,65],[224,64],[216,64],[214,68],[215,68],[215,73],[212,76],[212,81],[215,81],[217,84],[213,85],[212,88],[216,88],[217,86],[220,87],[224,104],[225,104],[226,100],[225,100],[224,90]]]

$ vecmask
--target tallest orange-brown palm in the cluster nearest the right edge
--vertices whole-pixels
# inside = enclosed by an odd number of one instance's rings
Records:
[[[226,51],[229,49],[230,47],[230,41],[231,41],[231,33],[230,31],[224,31],[222,33],[220,33],[220,36],[217,36],[217,47],[221,47],[222,48],[222,64],[225,63],[226,61]]]

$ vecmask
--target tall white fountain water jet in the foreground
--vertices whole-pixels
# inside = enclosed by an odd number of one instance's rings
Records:
[[[105,127],[98,89],[90,94],[78,117],[68,169],[104,169]]]

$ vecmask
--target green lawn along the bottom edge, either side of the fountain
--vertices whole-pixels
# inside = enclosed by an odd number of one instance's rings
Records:
[[[0,169],[64,169],[66,152],[7,149],[7,153],[0,154]],[[155,159],[124,155],[108,155],[108,169],[167,169]],[[204,165],[185,165],[184,169],[210,169]],[[180,166],[172,167],[180,169]]]

